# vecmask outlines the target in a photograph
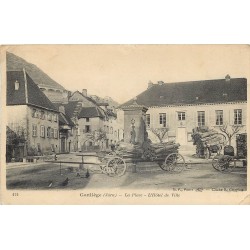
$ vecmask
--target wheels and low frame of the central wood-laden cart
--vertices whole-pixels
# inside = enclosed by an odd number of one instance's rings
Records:
[[[184,157],[176,153],[170,153],[166,157],[156,157],[154,159],[126,158],[119,152],[110,152],[105,155],[99,154],[100,168],[103,173],[108,176],[122,176],[126,172],[128,164],[136,164],[139,162],[155,162],[159,167],[170,173],[180,173],[185,168]]]

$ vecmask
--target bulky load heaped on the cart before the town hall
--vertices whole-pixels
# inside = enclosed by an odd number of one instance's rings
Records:
[[[207,146],[218,146],[225,143],[225,136],[214,129],[207,127],[195,128],[192,134],[193,144],[196,145],[196,154],[204,156]]]

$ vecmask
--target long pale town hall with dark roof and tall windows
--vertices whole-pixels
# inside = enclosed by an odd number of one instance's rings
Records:
[[[130,100],[120,108],[133,103]],[[148,107],[145,117],[149,136],[156,137],[151,128],[168,128],[165,140],[175,140],[181,145],[192,145],[192,130],[207,126],[220,132],[238,126],[239,133],[247,130],[247,79],[225,79],[164,83],[149,83],[148,89],[137,96],[138,104]],[[124,122],[120,109],[118,119]],[[235,137],[232,144],[235,146]]]

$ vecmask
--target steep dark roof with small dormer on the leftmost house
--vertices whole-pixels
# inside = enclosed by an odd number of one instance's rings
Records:
[[[19,89],[15,90],[15,82]],[[47,110],[57,109],[25,71],[7,71],[7,105],[32,105]]]

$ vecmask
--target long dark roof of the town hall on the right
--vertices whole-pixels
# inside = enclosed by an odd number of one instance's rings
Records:
[[[225,79],[153,84],[137,96],[147,107],[247,101],[247,79]],[[133,104],[134,99],[120,108]]]

